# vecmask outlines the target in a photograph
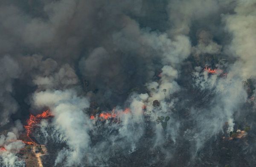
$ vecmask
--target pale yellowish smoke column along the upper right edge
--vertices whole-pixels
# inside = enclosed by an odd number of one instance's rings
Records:
[[[244,3],[238,2],[234,9],[235,14],[227,15],[223,18],[226,22],[227,31],[229,31],[233,39],[227,48],[232,56],[237,57],[238,61],[233,65],[232,71],[238,74],[242,79],[248,79],[254,76],[255,66],[255,6],[254,0]],[[239,24],[238,24],[239,23]],[[241,45],[241,43],[243,45]],[[238,70],[239,69],[239,70]]]

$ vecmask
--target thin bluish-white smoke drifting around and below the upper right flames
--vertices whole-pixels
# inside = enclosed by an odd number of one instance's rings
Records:
[[[225,122],[228,123],[228,133],[233,131],[234,113],[238,112],[247,99],[241,78],[219,78],[220,74],[210,75],[207,71],[195,72],[195,87],[201,91],[212,91],[211,96],[205,96],[209,102],[208,107],[192,109],[192,117],[196,121],[198,131],[195,133],[196,150],[204,146],[207,138],[215,136],[223,130]],[[210,99],[207,100],[207,99]]]

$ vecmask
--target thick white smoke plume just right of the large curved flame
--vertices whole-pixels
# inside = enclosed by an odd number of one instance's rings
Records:
[[[88,150],[90,136],[87,133],[92,127],[88,116],[83,111],[89,107],[87,99],[78,97],[73,90],[65,90],[35,93],[33,101],[35,107],[50,108],[55,115],[55,129],[64,136],[69,147],[61,150],[55,163],[64,160],[62,154],[67,156],[67,166],[80,162]]]

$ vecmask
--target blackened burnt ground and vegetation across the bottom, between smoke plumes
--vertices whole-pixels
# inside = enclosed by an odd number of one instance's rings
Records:
[[[117,136],[119,133],[118,129],[113,130],[108,128],[108,126],[112,124],[119,126],[118,122],[114,121],[115,119],[97,120],[95,125],[97,133],[94,131],[90,132],[92,141],[91,147],[101,142],[105,142],[105,144],[111,146],[108,147],[108,152],[110,153],[108,159],[102,157],[98,162],[100,161],[99,163],[102,164],[102,166],[111,167],[224,167],[226,165],[230,167],[250,167],[251,164],[255,163],[253,158],[255,151],[250,148],[250,144],[253,144],[255,135],[248,129],[247,125],[253,122],[253,118],[246,118],[246,114],[241,116],[240,119],[237,119],[237,126],[234,127],[235,130],[247,129],[248,136],[246,136],[246,138],[232,140],[223,139],[223,136],[230,136],[227,134],[224,127],[223,133],[220,132],[216,134],[216,136],[207,139],[204,147],[195,154],[192,154],[195,148],[193,142],[186,138],[186,131],[197,129],[197,127],[195,122],[191,119],[192,113],[190,108],[199,108],[200,106],[201,108],[206,108],[212,96],[211,91],[200,91],[197,88],[183,89],[182,93],[172,95],[172,98],[179,97],[178,99],[182,99],[175,104],[175,110],[169,113],[172,118],[179,120],[179,133],[177,134],[175,142],[169,137],[165,137],[163,147],[154,146],[156,137],[154,127],[157,123],[160,123],[163,129],[165,129],[165,124],[170,123],[169,116],[160,116],[156,120],[148,120],[145,118],[145,133],[137,143],[135,150],[129,150],[130,145],[123,145],[123,139],[117,140],[115,144],[111,144],[110,136]],[[155,104],[157,104],[155,105],[156,108],[161,107],[157,102],[155,102]],[[247,110],[252,109],[250,103],[246,104],[246,106]],[[94,104],[94,106],[91,105],[91,110],[93,110],[94,113],[98,113],[99,110],[95,108],[97,108],[96,104]],[[137,126],[141,125],[138,124]],[[36,135],[34,134],[34,136]],[[165,136],[165,134],[163,134],[163,136]],[[39,142],[40,139],[37,141]],[[44,139],[42,141],[44,141]],[[65,145],[64,143],[55,143],[52,141],[47,141],[49,154],[42,156],[45,167],[50,167],[54,164],[54,159],[58,153],[56,150],[61,150]],[[166,156],[166,150],[172,151],[172,155]],[[84,158],[85,165],[87,165],[87,156],[93,157],[96,155],[88,153]]]

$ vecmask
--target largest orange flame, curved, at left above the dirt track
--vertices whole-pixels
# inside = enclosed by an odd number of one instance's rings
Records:
[[[37,125],[41,119],[46,119],[46,118],[49,118],[51,117],[51,113],[49,112],[49,110],[46,110],[44,111],[43,113],[41,114],[38,114],[36,116],[30,114],[29,116],[29,119],[27,120],[27,125],[24,126],[24,128],[26,129],[26,135],[29,137],[33,128],[35,127],[35,125]],[[30,137],[29,137],[30,139]],[[32,141],[32,139],[30,139]],[[24,142],[23,143],[26,143],[26,144],[29,144],[29,145],[32,145],[34,144],[35,142]]]

